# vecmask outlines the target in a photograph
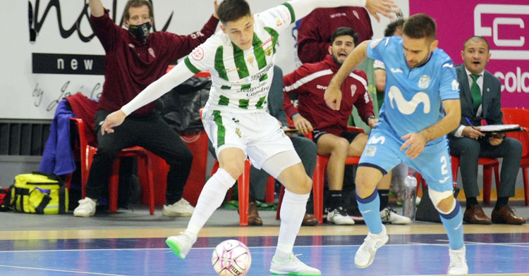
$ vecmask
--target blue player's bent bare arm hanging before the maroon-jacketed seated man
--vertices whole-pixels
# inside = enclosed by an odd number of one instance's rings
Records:
[[[334,74],[334,77],[332,77],[329,87],[327,87],[323,96],[325,103],[327,103],[327,106],[332,110],[340,110],[341,84],[343,83],[343,80],[353,72],[353,69],[360,65],[360,63],[362,63],[367,57],[367,44],[369,44],[369,42],[370,40],[366,40],[365,42],[360,43],[358,47],[349,54],[346,61],[343,62],[340,70],[338,70],[338,72]]]

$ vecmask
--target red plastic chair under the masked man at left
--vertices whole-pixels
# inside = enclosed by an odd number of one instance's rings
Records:
[[[97,152],[97,148],[87,144],[85,137],[85,123],[79,118],[71,118],[71,121],[77,127],[79,137],[79,148],[80,148],[80,163],[81,163],[81,193],[83,199],[85,198],[85,187],[88,181],[88,175],[94,160],[94,155]],[[154,180],[152,172],[150,170],[150,158],[149,153],[146,149],[141,146],[133,146],[130,148],[122,149],[118,153],[118,157],[112,165],[112,172],[109,179],[109,211],[116,212],[118,210],[118,186],[119,186],[119,159],[121,157],[138,157],[145,163],[145,174],[148,178],[149,185],[149,199],[150,199],[150,214],[154,214]]]

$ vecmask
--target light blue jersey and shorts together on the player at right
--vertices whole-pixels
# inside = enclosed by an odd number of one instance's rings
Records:
[[[400,148],[401,139],[420,132],[444,117],[442,101],[459,99],[459,82],[451,58],[441,49],[418,68],[409,68],[400,37],[373,40],[367,56],[386,65],[386,94],[380,120],[360,158],[359,165],[378,168],[384,174],[404,162],[422,174],[431,189],[452,189],[452,175],[446,135],[427,142],[420,155],[411,159]]]

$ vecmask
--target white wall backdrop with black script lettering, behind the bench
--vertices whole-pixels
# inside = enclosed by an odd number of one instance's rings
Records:
[[[253,12],[284,3],[285,0],[249,0]],[[153,0],[157,30],[188,34],[200,30],[213,12],[213,0]],[[408,0],[396,1],[408,16]],[[111,17],[121,20],[126,0],[103,0]],[[53,118],[56,103],[82,92],[97,98],[103,75],[97,75],[104,50],[88,22],[87,0],[0,0],[4,23],[0,65],[0,118]],[[37,15],[30,25],[28,4]],[[114,6],[115,5],[115,6]],[[172,18],[171,18],[172,16]],[[388,19],[372,18],[374,37],[382,37]],[[30,27],[37,31],[30,42]],[[290,73],[295,69],[295,39],[291,32],[279,37],[277,63]],[[38,73],[37,73],[38,72]]]

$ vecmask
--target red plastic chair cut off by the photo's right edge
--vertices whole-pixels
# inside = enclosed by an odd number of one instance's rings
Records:
[[[501,108],[504,123],[523,127],[522,132],[507,132],[507,137],[518,139],[522,143],[522,161],[520,167],[523,175],[525,206],[529,206],[529,110],[518,108]]]

